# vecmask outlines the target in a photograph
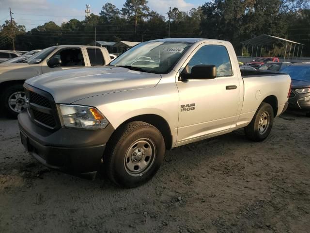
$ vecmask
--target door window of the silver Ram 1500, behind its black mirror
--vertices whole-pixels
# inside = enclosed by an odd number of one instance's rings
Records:
[[[228,52],[221,45],[205,45],[200,48],[188,63],[189,72],[196,65],[215,65],[217,67],[217,77],[233,75]]]

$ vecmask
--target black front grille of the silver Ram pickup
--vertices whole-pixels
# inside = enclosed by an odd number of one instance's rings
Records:
[[[26,98],[29,100],[27,111],[31,120],[42,128],[56,130],[60,127],[57,108],[53,97],[40,89],[24,84]]]

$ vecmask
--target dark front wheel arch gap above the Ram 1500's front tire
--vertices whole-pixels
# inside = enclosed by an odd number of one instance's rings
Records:
[[[124,124],[133,122],[133,121],[143,121],[143,122],[146,122],[148,124],[155,126],[160,131],[160,133],[163,135],[166,149],[170,150],[172,148],[172,134],[171,134],[170,126],[168,122],[162,116],[159,116],[156,114],[143,114],[143,115],[133,116],[125,120],[122,124],[120,124],[115,129],[114,133],[120,130],[120,128],[122,128]]]

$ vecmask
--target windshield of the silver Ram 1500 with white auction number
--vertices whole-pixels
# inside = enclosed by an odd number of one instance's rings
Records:
[[[165,74],[171,71],[191,45],[186,42],[144,42],[127,50],[109,65]]]

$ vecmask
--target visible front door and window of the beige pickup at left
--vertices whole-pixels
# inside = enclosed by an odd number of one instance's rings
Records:
[[[53,57],[60,58],[61,64],[54,67],[49,66],[48,61]],[[42,63],[42,73],[85,67],[83,51],[80,48],[60,49],[49,57],[49,59],[46,59]]]

